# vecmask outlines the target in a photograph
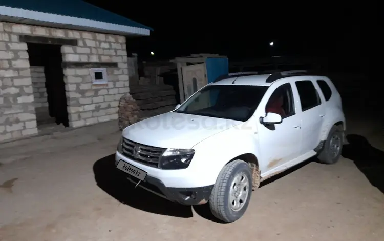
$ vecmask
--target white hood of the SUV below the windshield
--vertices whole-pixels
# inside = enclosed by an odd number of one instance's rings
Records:
[[[123,136],[140,144],[162,148],[192,148],[202,140],[242,122],[168,112],[144,119],[123,130]]]

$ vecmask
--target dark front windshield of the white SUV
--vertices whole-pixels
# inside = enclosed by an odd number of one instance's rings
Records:
[[[247,121],[258,107],[267,86],[208,85],[175,112]]]

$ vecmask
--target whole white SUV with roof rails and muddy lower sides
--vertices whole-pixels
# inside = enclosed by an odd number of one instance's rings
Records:
[[[342,100],[328,77],[234,73],[175,110],[125,128],[115,165],[136,186],[168,200],[209,201],[229,223],[268,177],[315,155],[337,162],[345,128]]]

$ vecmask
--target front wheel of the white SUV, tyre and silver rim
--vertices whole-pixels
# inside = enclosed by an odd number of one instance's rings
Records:
[[[232,223],[244,215],[251,194],[251,169],[243,160],[234,160],[219,173],[209,197],[210,210],[216,218]]]

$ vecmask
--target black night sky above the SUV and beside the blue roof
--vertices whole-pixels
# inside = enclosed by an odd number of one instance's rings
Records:
[[[150,37],[127,41],[127,50],[142,58],[151,57],[151,51],[157,59],[197,53],[260,58],[270,56],[269,42],[273,41],[273,55],[343,56],[366,62],[374,56],[377,47],[372,43],[379,35],[377,2],[353,6],[344,1],[332,5],[326,1],[304,5],[240,1],[236,6],[233,1],[168,6],[144,1],[87,2],[154,28]]]

